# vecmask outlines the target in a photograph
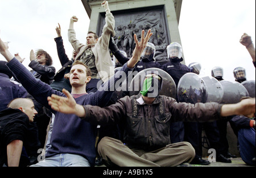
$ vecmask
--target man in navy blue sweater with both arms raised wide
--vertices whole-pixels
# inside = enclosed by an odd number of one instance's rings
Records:
[[[123,65],[121,71],[115,73],[107,84],[102,85],[96,93],[86,93],[86,84],[90,81],[89,69],[81,63],[74,63],[71,68],[70,82],[72,85],[72,96],[79,105],[95,105],[105,106],[114,91],[110,91],[111,86],[118,80],[125,80],[122,77],[122,72],[126,76],[129,71],[132,71],[135,64],[141,57],[143,49],[146,47],[148,40],[151,37],[151,31],[147,32],[141,42],[138,42],[137,36],[134,35],[136,47],[133,52],[133,57]],[[48,107],[47,97],[52,94],[65,97],[65,94],[53,90],[51,86],[36,79],[30,71],[26,69],[6,48],[6,45],[0,39],[0,53],[7,60],[7,67],[15,74],[27,92],[30,93],[36,101]],[[82,121],[75,114],[63,114],[53,111],[55,121],[51,135],[51,148],[47,151],[46,159],[36,166],[93,166],[96,158],[96,127],[88,122]]]

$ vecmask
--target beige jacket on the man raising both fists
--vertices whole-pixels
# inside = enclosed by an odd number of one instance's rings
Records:
[[[114,76],[114,66],[109,53],[109,40],[111,36],[115,36],[115,20],[113,14],[107,11],[105,20],[106,24],[103,27],[102,35],[94,47],[92,47],[95,56],[95,65],[98,70],[98,78],[101,78],[104,82]],[[80,43],[79,40],[76,39],[74,29],[68,29],[68,40],[77,52],[76,59],[80,59],[88,46]]]

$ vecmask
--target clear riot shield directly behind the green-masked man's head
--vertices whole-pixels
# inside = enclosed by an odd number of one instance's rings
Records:
[[[141,91],[144,78],[150,73],[160,74],[160,76],[163,78],[162,90],[160,90],[159,95],[176,98],[176,84],[174,79],[172,79],[170,74],[159,68],[144,69],[136,74],[133,80],[131,80],[131,82],[128,84],[130,96],[137,95]]]

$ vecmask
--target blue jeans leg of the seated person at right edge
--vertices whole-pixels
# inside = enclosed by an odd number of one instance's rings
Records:
[[[240,155],[246,164],[255,165],[255,129],[240,129],[238,131],[238,143],[240,145]]]

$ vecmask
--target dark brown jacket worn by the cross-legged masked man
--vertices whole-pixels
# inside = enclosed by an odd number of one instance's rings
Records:
[[[174,98],[158,96],[151,104],[140,104],[141,95],[126,96],[108,107],[84,106],[85,121],[95,125],[121,123],[124,143],[146,151],[171,143],[170,122],[209,122],[220,118],[222,105],[217,103],[177,103]]]

